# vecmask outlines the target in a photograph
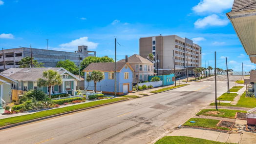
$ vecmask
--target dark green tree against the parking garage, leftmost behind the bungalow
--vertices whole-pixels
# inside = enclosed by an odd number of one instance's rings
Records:
[[[42,62],[37,62],[37,60],[34,60],[34,58],[32,58],[32,63],[33,67],[43,67],[44,64]],[[31,67],[31,57],[22,58],[19,64],[21,68]]]

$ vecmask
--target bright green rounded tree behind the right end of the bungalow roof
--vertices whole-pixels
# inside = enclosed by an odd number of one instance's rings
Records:
[[[57,62],[56,67],[63,67],[74,75],[78,75],[79,73],[79,68],[76,66],[75,62],[70,60],[59,61]]]

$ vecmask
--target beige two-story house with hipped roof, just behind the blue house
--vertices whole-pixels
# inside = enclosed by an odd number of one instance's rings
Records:
[[[154,75],[154,63],[148,58],[143,58],[140,55],[134,54],[126,59],[120,60],[119,62],[129,62],[133,68],[133,83],[148,81],[149,76]]]

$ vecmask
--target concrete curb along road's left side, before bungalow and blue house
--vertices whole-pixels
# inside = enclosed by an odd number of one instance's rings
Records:
[[[27,123],[33,123],[33,122],[37,122],[37,121],[41,121],[41,120],[45,120],[45,119],[49,119],[49,118],[54,118],[54,117],[58,117],[58,116],[62,116],[62,115],[66,115],[66,114],[70,114],[70,113],[74,113],[74,112],[78,112],[78,111],[83,111],[83,110],[86,110],[86,109],[91,109],[91,108],[100,107],[100,106],[104,106],[104,105],[109,105],[109,104],[113,104],[113,103],[120,103],[120,102],[124,102],[124,101],[128,101],[128,100],[129,99],[121,100],[121,101],[117,101],[117,102],[112,102],[112,103],[105,103],[105,104],[95,105],[95,106],[86,107],[86,108],[82,108],[82,109],[77,109],[77,110],[73,110],[73,111],[68,111],[68,112],[64,112],[64,113],[60,113],[60,114],[56,114],[56,115],[46,116],[46,117],[42,117],[42,118],[38,118],[38,119],[34,119],[34,120],[29,120],[29,121],[25,121],[25,122],[21,122],[21,123],[14,123],[14,124],[10,124],[10,125],[0,127],[0,130],[6,129],[6,128],[11,128],[11,127],[18,126],[18,125],[27,124]]]

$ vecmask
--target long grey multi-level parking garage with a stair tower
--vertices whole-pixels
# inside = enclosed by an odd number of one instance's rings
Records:
[[[82,61],[84,58],[88,56],[96,56],[96,52],[88,51],[88,47],[85,45],[78,46],[78,51],[75,52],[32,48],[32,57],[34,58],[34,60],[37,60],[38,62],[43,62],[44,67],[55,67],[56,63],[61,60],[70,60],[72,62],[75,62],[76,65],[78,65],[80,61]],[[4,69],[3,63],[5,63],[5,69],[19,67],[19,62],[24,57],[31,57],[30,48],[21,47],[5,49],[3,50],[3,52],[2,50],[0,50],[0,71],[3,71]]]

